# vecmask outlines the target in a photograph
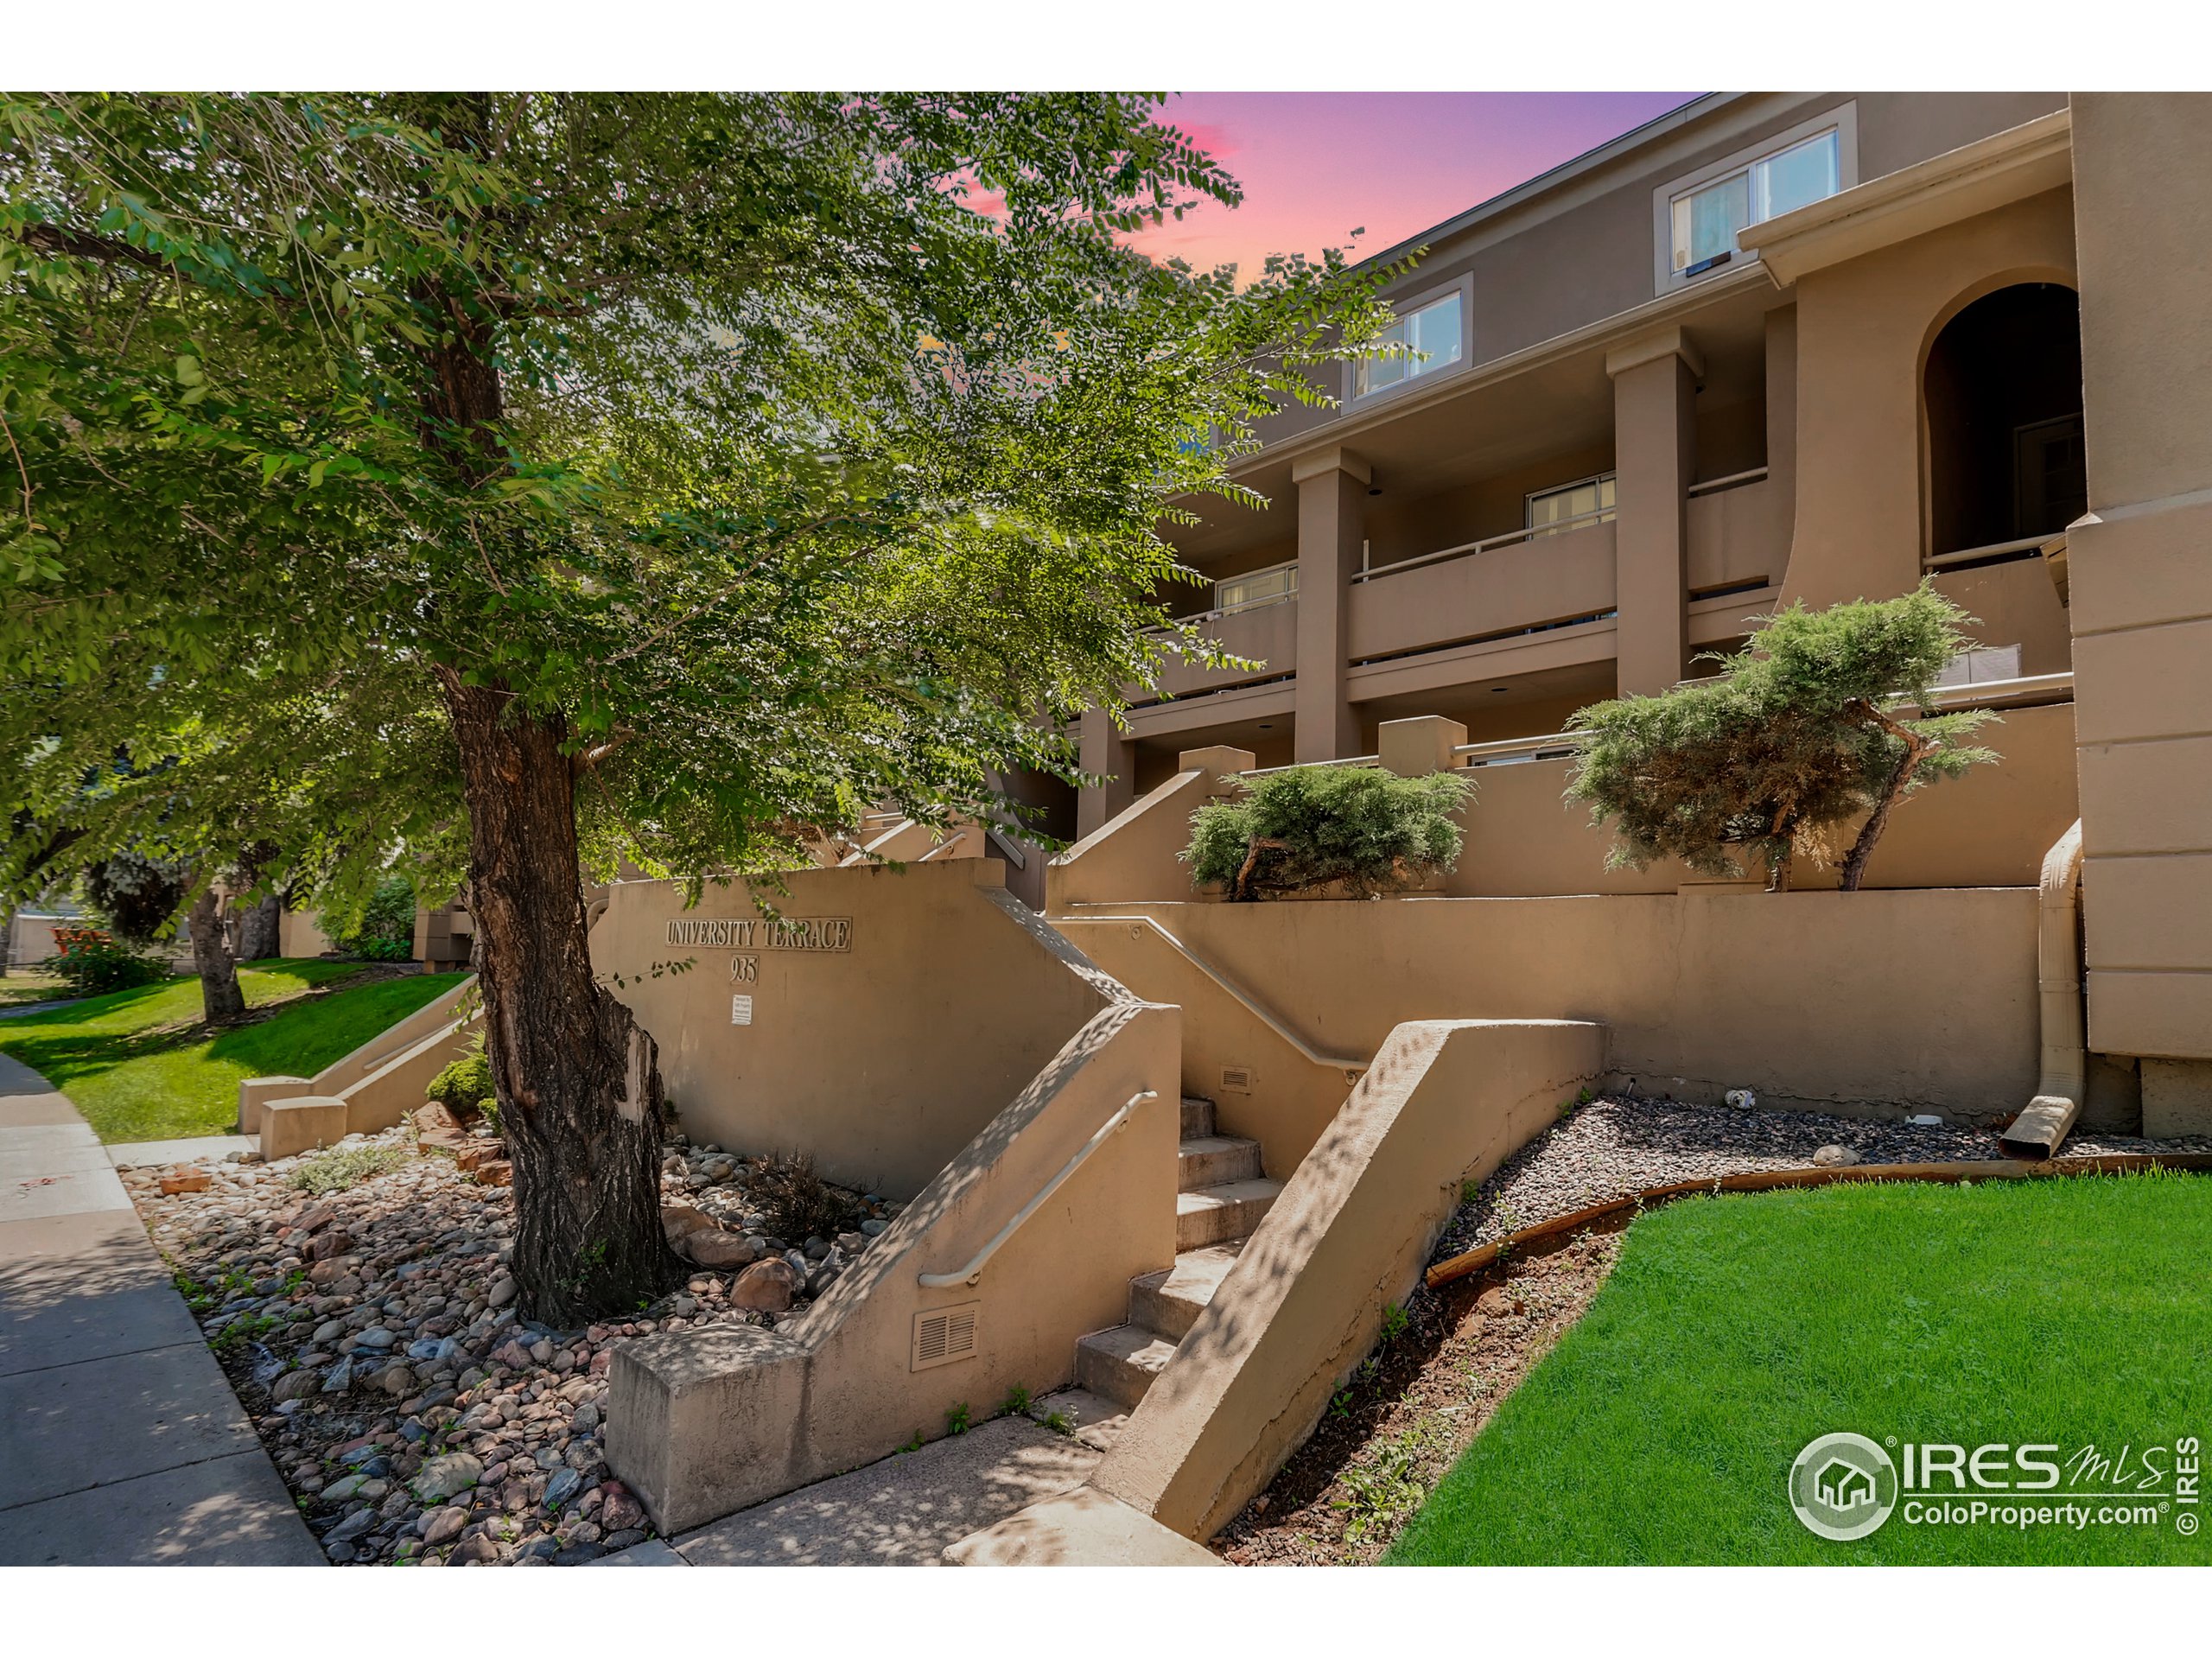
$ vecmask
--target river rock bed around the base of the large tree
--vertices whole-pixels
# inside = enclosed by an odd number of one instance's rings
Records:
[[[664,1225],[695,1274],[635,1318],[553,1329],[515,1310],[498,1141],[440,1108],[425,1115],[279,1164],[124,1170],[338,1564],[573,1566],[650,1537],[644,1504],[604,1460],[615,1349],[697,1325],[772,1327],[900,1210],[803,1166],[672,1135]],[[768,1232],[794,1214],[843,1225],[796,1241]]]

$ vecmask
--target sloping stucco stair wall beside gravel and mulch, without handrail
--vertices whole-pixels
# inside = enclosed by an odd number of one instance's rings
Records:
[[[1460,1201],[1606,1064],[1568,1022],[1402,1024],[1091,1484],[1210,1537],[1298,1449]]]

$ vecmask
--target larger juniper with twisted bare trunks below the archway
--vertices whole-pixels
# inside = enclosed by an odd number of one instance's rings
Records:
[[[1588,737],[1566,794],[1615,823],[1610,865],[1681,858],[1725,876],[1741,847],[1776,891],[1796,856],[1825,863],[1827,832],[1865,814],[1840,872],[1858,891],[1898,801],[1997,759],[1964,743],[1989,710],[1929,712],[1971,622],[1927,582],[1898,599],[1794,604],[1717,657],[1717,679],[1575,714]]]

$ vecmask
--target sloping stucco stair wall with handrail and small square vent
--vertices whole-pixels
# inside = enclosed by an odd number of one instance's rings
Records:
[[[1042,975],[1040,975],[1042,978]],[[801,1318],[774,1332],[714,1325],[615,1354],[606,1455],[664,1533],[936,1440],[947,1413],[989,1416],[1075,1371],[1075,1340],[1121,1323],[1128,1281],[1175,1259],[1175,1051],[1181,1015],[1104,1006]],[[989,1055],[975,1051],[978,1073]],[[1037,1194],[1135,1097],[1124,1128],[989,1259],[949,1274]],[[918,1314],[973,1305],[975,1354],[914,1369]]]

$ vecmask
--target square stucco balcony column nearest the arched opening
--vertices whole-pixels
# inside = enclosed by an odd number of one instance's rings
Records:
[[[1619,695],[1663,692],[1690,661],[1690,482],[1705,363],[1670,327],[1606,354],[1613,376]]]

